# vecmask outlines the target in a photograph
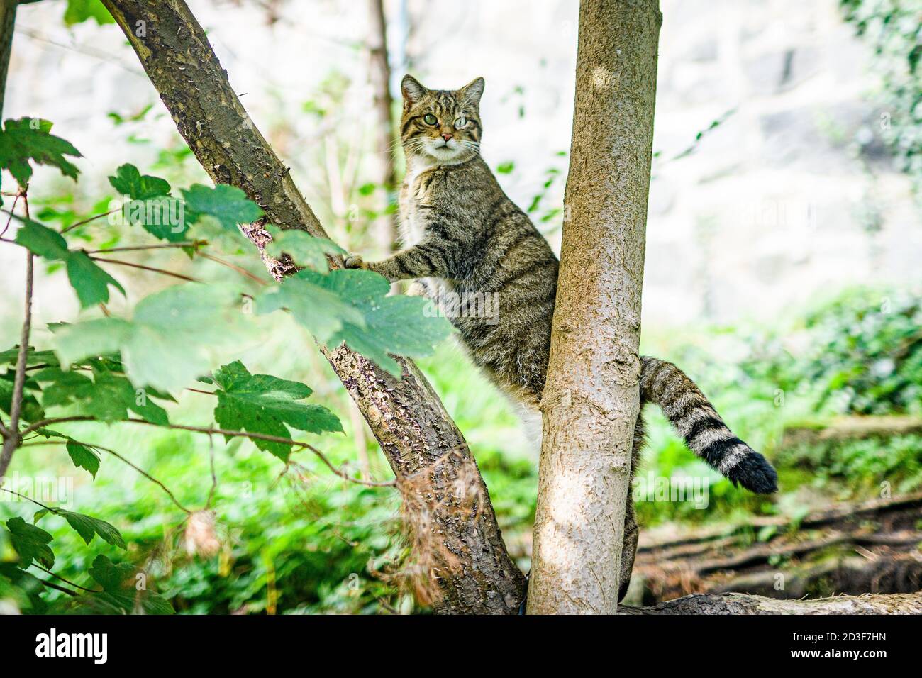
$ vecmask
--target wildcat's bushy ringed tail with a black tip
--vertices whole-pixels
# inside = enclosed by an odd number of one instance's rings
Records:
[[[641,363],[641,403],[658,405],[692,452],[734,485],[756,494],[777,491],[778,474],[772,465],[730,431],[688,376],[656,358],[641,356]]]

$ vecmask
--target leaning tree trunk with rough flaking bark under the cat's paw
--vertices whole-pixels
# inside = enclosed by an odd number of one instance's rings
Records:
[[[228,82],[182,0],[102,0],[160,92],[180,134],[216,184],[231,184],[283,229],[326,233]],[[260,246],[258,226],[251,238]],[[262,252],[267,258],[265,251]],[[288,268],[268,260],[280,278]],[[322,347],[384,450],[405,504],[428,520],[429,560],[442,613],[514,613],[525,577],[506,553],[489,494],[464,436],[425,377],[402,360],[396,379],[345,346]],[[461,481],[461,482],[459,482]],[[471,499],[473,497],[473,499]],[[412,521],[411,521],[412,522]]]

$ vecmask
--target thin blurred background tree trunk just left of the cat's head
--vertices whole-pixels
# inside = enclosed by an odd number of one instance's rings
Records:
[[[391,110],[391,65],[387,52],[387,21],[384,18],[384,0],[368,0],[369,18],[369,75],[374,96],[374,164],[377,183],[384,189],[384,208],[396,203],[396,172],[394,169],[394,121]],[[374,242],[381,254],[389,255],[396,249],[396,219],[384,212],[372,224]]]

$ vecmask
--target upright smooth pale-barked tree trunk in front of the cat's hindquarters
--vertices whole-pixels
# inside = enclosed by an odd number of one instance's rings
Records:
[[[529,613],[618,606],[660,23],[656,0],[580,4]]]

